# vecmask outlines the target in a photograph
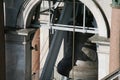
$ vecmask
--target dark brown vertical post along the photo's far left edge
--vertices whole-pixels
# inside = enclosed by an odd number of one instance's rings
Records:
[[[0,0],[0,80],[5,80],[5,38],[3,0]]]

